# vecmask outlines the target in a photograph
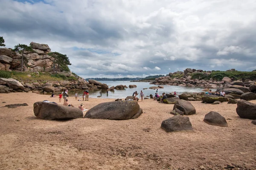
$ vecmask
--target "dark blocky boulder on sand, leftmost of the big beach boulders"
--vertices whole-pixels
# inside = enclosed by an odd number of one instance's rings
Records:
[[[34,114],[37,118],[47,120],[83,118],[83,112],[79,108],[57,105],[49,102],[35,102]]]

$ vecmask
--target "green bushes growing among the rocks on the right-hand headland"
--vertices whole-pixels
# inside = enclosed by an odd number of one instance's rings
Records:
[[[213,71],[211,74],[206,73],[195,73],[192,74],[192,79],[215,79],[217,81],[221,81],[223,77],[229,77],[233,80],[241,80],[241,79],[256,79],[256,72],[246,72],[246,71]]]

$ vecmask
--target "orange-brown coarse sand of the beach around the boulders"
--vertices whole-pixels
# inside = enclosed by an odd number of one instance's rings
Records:
[[[78,107],[81,103],[69,97]],[[34,93],[0,94],[0,170],[164,170],[256,169],[256,125],[240,119],[236,105],[191,102],[194,132],[166,133],[161,122],[173,105],[152,99],[139,102],[143,114],[131,120],[37,119],[33,103],[58,98]],[[113,99],[89,99],[87,108]],[[6,102],[6,103],[2,103]],[[256,103],[256,101],[252,101]],[[27,103],[18,108],[7,104]],[[208,125],[216,111],[228,127]]]

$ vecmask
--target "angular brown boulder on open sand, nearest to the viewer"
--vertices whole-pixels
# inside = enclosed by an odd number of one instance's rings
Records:
[[[176,115],[162,122],[161,128],[166,132],[193,130],[189,117]]]

